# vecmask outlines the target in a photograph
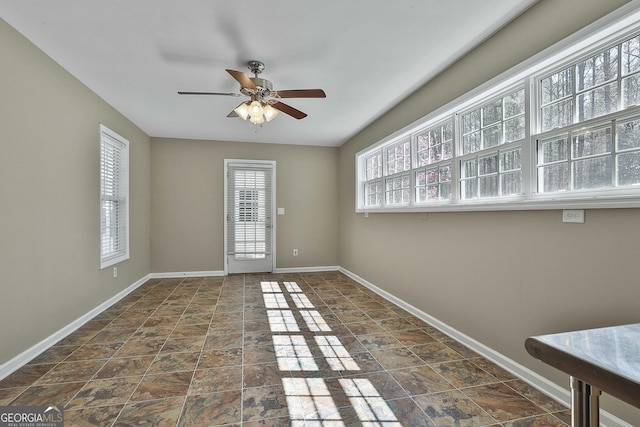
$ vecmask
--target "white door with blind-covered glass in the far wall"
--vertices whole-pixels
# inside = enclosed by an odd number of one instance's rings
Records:
[[[225,160],[226,272],[274,270],[275,162]]]

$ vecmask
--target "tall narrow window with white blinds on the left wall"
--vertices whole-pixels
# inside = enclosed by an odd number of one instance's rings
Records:
[[[129,259],[129,141],[100,125],[100,268]]]

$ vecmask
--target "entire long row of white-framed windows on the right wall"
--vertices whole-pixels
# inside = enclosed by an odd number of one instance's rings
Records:
[[[359,152],[356,210],[640,207],[640,11],[616,14]]]

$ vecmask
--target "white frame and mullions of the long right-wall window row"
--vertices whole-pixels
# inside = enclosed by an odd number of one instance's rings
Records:
[[[541,138],[551,132],[557,132],[577,126],[571,124],[562,129],[553,129],[549,132],[540,132],[541,114],[538,93],[540,81],[545,75],[550,75],[554,70],[562,67],[573,66],[598,52],[622,43],[626,39],[640,34],[640,0],[632,0],[617,11],[605,16],[597,22],[585,27],[567,39],[546,49],[529,60],[497,76],[485,84],[477,87],[460,98],[442,106],[433,113],[417,120],[416,122],[398,130],[368,148],[356,153],[356,212],[438,212],[438,211],[480,211],[480,210],[533,210],[533,209],[576,209],[576,208],[620,208],[640,207],[640,185],[617,188],[593,188],[588,190],[564,191],[564,192],[540,192],[538,191],[537,178],[537,151],[536,147]],[[621,58],[619,58],[619,62]],[[619,77],[621,78],[621,77]],[[618,84],[619,86],[619,84]],[[517,88],[524,88],[525,93],[525,135],[519,141],[505,142],[495,147],[481,149],[474,153],[462,154],[461,117],[470,110],[477,109],[487,104],[487,100],[497,99]],[[572,95],[575,96],[575,93]],[[618,93],[619,99],[622,93]],[[637,110],[637,111],[636,111]],[[613,123],[625,117],[635,117],[640,114],[640,107],[629,107],[622,111],[604,114],[586,122],[589,123]],[[445,120],[454,119],[454,157],[449,160],[452,164],[452,193],[451,200],[427,200],[418,202],[418,184],[416,176],[419,171],[439,167],[443,162],[433,162],[427,166],[418,166],[417,163],[417,135],[425,129],[437,126]],[[583,125],[583,122],[580,125]],[[412,151],[412,167],[409,173],[411,189],[410,201],[403,204],[387,204],[383,194],[379,205],[365,204],[365,171],[363,159],[373,152],[383,153],[384,165],[382,177],[383,193],[386,190],[388,178],[399,174],[387,174],[386,150],[403,140],[410,138]],[[615,144],[615,139],[614,139]],[[483,157],[492,153],[500,153],[513,149],[520,149],[522,176],[522,194],[498,195],[496,197],[463,199],[461,197],[461,165],[466,159]],[[615,148],[614,148],[615,151]],[[617,158],[613,153],[613,168]],[[500,161],[500,158],[498,159]],[[498,174],[500,180],[500,174]],[[370,181],[369,181],[370,182]],[[615,185],[615,181],[613,181]]]

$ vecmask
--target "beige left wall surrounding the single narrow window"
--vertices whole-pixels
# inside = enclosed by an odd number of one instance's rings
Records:
[[[0,366],[149,273],[149,138],[0,19]],[[100,270],[99,124],[131,142],[131,259]]]

